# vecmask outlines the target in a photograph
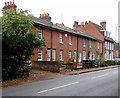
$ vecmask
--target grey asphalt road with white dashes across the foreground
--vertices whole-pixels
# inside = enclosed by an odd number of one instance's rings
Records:
[[[118,96],[118,68],[3,88],[3,96]]]

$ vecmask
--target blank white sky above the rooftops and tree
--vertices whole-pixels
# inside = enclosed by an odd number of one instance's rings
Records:
[[[0,16],[5,2],[0,0]],[[64,23],[73,28],[74,21],[79,24],[92,21],[98,25],[106,21],[106,29],[111,32],[112,38],[118,41],[118,2],[120,0],[14,0],[18,9],[27,9],[30,14],[39,17],[49,13],[52,22]]]

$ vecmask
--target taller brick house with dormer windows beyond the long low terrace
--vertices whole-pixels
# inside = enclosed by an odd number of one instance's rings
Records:
[[[114,40],[111,38],[111,32],[106,30],[106,21],[97,25],[91,21],[78,24],[74,22],[73,29],[77,32],[86,32],[99,40],[102,40],[102,56],[106,60],[112,60],[115,57]]]

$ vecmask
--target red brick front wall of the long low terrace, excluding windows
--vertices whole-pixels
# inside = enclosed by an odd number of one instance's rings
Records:
[[[60,50],[63,50],[63,60],[64,61],[66,61],[68,59],[69,51],[72,51],[72,56],[74,54],[74,51],[77,51],[77,35],[71,34],[72,35],[72,45],[69,45],[68,38],[69,38],[70,33],[60,32],[57,30],[50,30],[48,28],[38,27],[38,26],[33,27],[33,30],[35,31],[36,28],[42,29],[42,36],[45,40],[45,46],[42,49],[42,57],[43,57],[44,61],[47,60],[47,49],[48,48],[56,49],[56,60],[59,60],[59,52],[60,52]],[[59,34],[60,33],[62,34],[62,37],[63,37],[63,44],[59,43]],[[52,40],[51,40],[51,34],[52,34]],[[67,34],[67,36],[65,36],[65,34]],[[52,46],[51,46],[51,41],[52,41]],[[78,37],[78,52],[83,53],[83,51],[86,51],[87,56],[88,56],[88,51],[96,53],[96,50],[98,50],[97,49],[98,42],[92,40],[92,45],[94,45],[94,46],[91,49],[89,49],[89,39],[86,38],[86,47],[84,48],[83,47],[83,37],[82,36]],[[52,49],[51,49],[51,52],[52,52]],[[101,51],[102,51],[102,45],[101,45],[100,49],[98,50],[98,52],[101,53]],[[32,60],[38,59],[37,52],[38,52],[38,50],[34,49],[35,55],[32,56]]]

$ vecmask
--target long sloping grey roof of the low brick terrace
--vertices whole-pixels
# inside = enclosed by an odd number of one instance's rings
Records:
[[[66,27],[66,26],[61,26],[61,24],[53,24],[52,22],[48,22],[48,21],[45,21],[43,19],[40,19],[40,18],[37,18],[37,17],[33,17],[33,21],[35,24],[39,24],[41,26],[45,26],[45,27],[49,27],[50,29],[55,29],[55,30],[60,30],[60,31],[63,31],[63,32],[68,32],[68,33],[71,33],[71,34],[75,34],[75,35],[79,35],[79,36],[83,36],[83,37],[86,37],[86,38],[90,38],[90,39],[94,39],[94,40],[97,40],[97,41],[101,41],[85,32],[75,32],[73,29],[69,28],[69,27]]]

